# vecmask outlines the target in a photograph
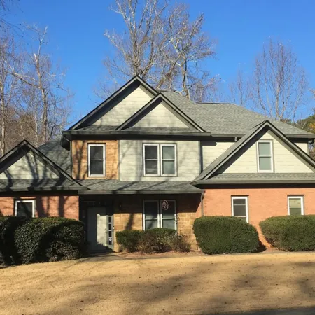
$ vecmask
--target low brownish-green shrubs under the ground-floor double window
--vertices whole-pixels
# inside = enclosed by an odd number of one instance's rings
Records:
[[[125,230],[116,232],[116,240],[123,251],[142,253],[165,253],[167,251],[190,251],[186,237],[176,230],[155,228],[152,230]]]

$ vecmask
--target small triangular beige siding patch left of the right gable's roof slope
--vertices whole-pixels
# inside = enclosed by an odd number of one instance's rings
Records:
[[[210,163],[214,162],[232,144],[234,142],[202,141],[202,169],[205,169]]]

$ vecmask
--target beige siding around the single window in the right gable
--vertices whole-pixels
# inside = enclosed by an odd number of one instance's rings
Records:
[[[304,162],[294,151],[272,132],[266,132],[260,139],[272,140],[274,149],[275,173],[312,173],[307,162]],[[257,173],[257,144],[253,144],[230,166],[225,173]]]

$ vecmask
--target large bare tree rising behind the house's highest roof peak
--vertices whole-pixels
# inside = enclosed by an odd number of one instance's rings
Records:
[[[171,7],[167,0],[116,0],[112,10],[126,27],[123,34],[105,31],[116,49],[104,62],[114,83],[139,75],[158,89],[209,99],[216,78],[201,62],[214,55],[214,42],[202,32],[204,15],[190,22],[187,6]]]

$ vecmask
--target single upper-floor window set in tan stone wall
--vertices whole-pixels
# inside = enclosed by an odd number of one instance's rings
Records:
[[[105,176],[105,144],[88,145],[89,176]]]

